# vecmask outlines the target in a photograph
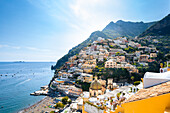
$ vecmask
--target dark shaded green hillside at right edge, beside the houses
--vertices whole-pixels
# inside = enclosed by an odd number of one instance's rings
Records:
[[[157,50],[159,50],[156,61],[165,62],[170,60],[170,14],[165,18],[153,24],[145,32],[143,32],[139,37],[145,37],[138,40],[143,46],[154,45]],[[154,42],[153,40],[157,40]]]

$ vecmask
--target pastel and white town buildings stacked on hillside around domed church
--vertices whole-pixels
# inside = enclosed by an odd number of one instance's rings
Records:
[[[152,86],[160,88],[156,85],[170,80],[169,62],[166,66],[161,66],[161,73],[157,73],[157,76],[151,72],[145,73],[142,79],[135,76],[140,74],[140,68],[147,68],[149,63],[157,60],[158,52],[153,45],[141,46],[126,37],[113,40],[98,37],[55,71],[49,84],[49,92],[68,96],[72,102],[64,107],[59,101],[54,105],[58,108],[54,112],[123,113],[121,105],[135,99],[140,100],[133,96],[142,93],[143,88]],[[114,75],[117,74],[116,71],[119,77]],[[165,86],[167,89],[162,93],[158,91],[159,95],[169,93],[169,82]],[[153,88],[150,89],[152,91]],[[152,97],[158,96],[154,94]],[[148,96],[145,94],[142,98]],[[60,106],[57,106],[59,104]]]

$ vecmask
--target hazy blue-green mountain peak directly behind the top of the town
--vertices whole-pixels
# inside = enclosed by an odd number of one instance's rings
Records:
[[[129,38],[134,38],[138,36],[148,27],[153,25],[155,22],[143,23],[143,22],[125,22],[122,20],[116,23],[110,22],[104,29],[103,32],[110,36],[111,38],[117,38],[120,36],[126,36]]]

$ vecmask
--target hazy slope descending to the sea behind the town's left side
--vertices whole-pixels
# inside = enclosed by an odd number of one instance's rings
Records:
[[[79,53],[82,48],[86,47],[89,43],[92,43],[93,41],[97,40],[98,37],[109,39],[109,37],[101,31],[93,32],[87,40],[83,41],[81,44],[77,45],[76,47],[73,47],[71,50],[69,50],[68,54],[60,58],[57,61],[57,64],[54,66],[54,68],[61,67],[64,64],[64,62],[68,61],[68,58]]]

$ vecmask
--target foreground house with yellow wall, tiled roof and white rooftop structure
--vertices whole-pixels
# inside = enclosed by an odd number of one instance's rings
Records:
[[[99,110],[97,107],[91,107],[91,109],[101,113],[170,113],[170,80],[161,80],[163,78],[169,78],[169,76],[169,72],[159,73],[159,75],[146,73],[143,79],[144,89],[140,89],[127,100],[118,103],[115,110],[108,112],[105,109]],[[155,78],[157,80],[156,82],[151,80],[148,85],[149,81],[146,81],[146,78]],[[87,103],[85,104],[87,106]],[[85,108],[83,106],[83,113],[90,113],[90,110],[86,110]]]

